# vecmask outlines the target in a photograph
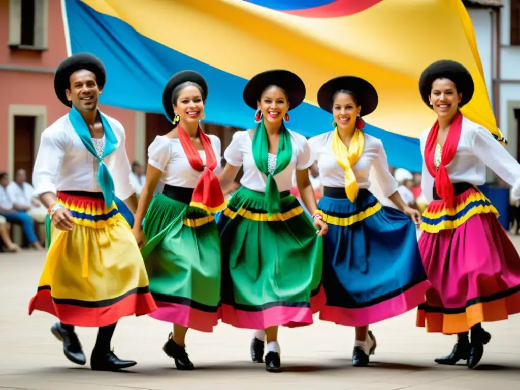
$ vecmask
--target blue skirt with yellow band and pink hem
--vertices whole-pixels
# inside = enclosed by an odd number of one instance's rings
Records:
[[[323,236],[320,319],[366,326],[395,317],[425,301],[426,280],[415,224],[366,189],[350,202],[343,189],[326,188],[318,209],[329,231]]]

